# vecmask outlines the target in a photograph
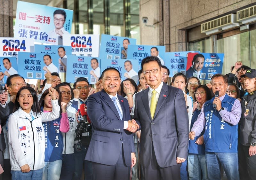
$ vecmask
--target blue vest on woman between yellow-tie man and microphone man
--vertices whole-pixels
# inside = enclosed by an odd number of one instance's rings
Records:
[[[190,131],[191,131],[191,128],[193,127],[194,123],[196,122],[197,120],[197,116],[200,114],[201,112],[201,109],[198,110],[196,109],[194,111],[194,113],[192,114],[192,120],[191,120],[191,126],[190,126]],[[201,135],[199,136],[196,136],[194,140],[189,140],[189,144],[188,144],[188,153],[190,154],[204,154],[204,144],[203,145],[198,145],[196,144],[196,140],[202,136],[204,134],[204,130],[201,132]]]

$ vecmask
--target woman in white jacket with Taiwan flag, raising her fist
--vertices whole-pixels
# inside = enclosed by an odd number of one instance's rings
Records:
[[[7,120],[12,176],[41,179],[45,149],[42,121],[52,121],[60,116],[58,100],[52,100],[52,112],[41,113],[36,91],[25,86],[17,92],[13,110],[15,112]]]

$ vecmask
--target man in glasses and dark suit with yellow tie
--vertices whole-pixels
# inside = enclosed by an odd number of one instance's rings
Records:
[[[149,88],[135,94],[134,119],[141,126],[140,164],[145,179],[180,179],[188,153],[188,111],[183,91],[162,82],[157,57],[141,62]]]

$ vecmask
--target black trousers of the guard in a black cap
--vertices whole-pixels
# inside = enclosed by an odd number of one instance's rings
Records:
[[[256,179],[256,155],[249,156],[249,147],[238,143],[238,166],[241,180]]]

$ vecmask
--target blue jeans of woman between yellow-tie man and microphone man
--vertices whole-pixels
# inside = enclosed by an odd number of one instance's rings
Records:
[[[204,154],[188,154],[188,175],[189,180],[208,179]]]

